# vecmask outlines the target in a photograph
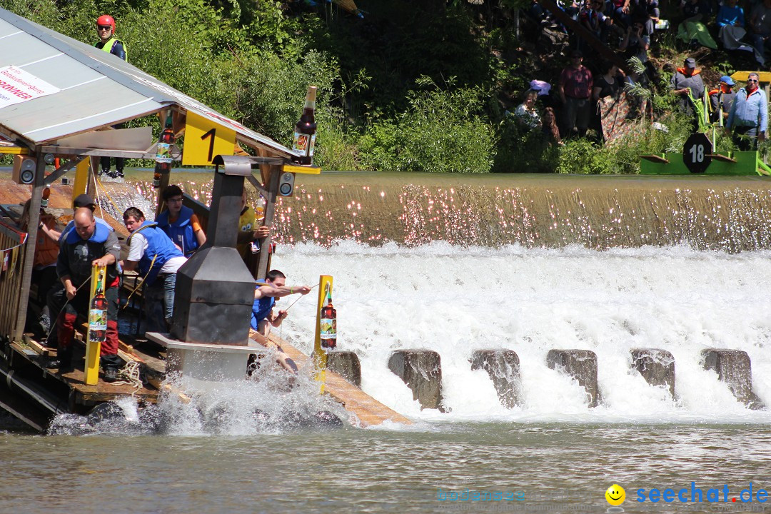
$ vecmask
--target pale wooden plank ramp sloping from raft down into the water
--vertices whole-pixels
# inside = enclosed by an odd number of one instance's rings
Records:
[[[250,330],[250,337],[254,339],[254,334]],[[288,342],[271,334],[268,339],[275,344],[281,345],[289,357],[298,365],[298,368],[311,366],[311,358],[302,353]],[[392,408],[382,405],[379,401],[367,395],[364,391],[350,384],[345,378],[334,371],[327,370],[325,390],[335,401],[341,403],[348,412],[352,412],[359,418],[362,427],[380,425],[382,422],[391,421],[402,423],[402,425],[412,425],[412,421],[394,411]]]

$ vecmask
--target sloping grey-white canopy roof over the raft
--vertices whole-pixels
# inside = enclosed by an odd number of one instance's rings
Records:
[[[0,136],[30,149],[175,108],[234,130],[239,143],[270,156],[298,155],[115,55],[0,8],[0,73],[8,66],[42,81],[42,89],[52,86],[49,94],[0,102]]]

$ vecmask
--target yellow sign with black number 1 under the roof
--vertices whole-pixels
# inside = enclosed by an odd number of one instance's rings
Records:
[[[212,166],[216,155],[233,155],[236,133],[204,116],[187,111],[185,146],[182,153],[184,166]]]

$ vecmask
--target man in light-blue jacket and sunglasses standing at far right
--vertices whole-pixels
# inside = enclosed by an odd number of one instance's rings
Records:
[[[757,148],[758,141],[766,139],[768,124],[768,99],[760,89],[758,74],[752,72],[747,76],[747,86],[736,93],[726,120],[726,133],[732,134],[740,150],[752,150]]]

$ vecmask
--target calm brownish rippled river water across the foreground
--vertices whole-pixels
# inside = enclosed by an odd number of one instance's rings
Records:
[[[763,512],[766,504],[731,500],[749,482],[753,495],[771,489],[771,429],[458,423],[249,437],[0,435],[0,462],[0,512],[604,512],[614,483],[626,489],[626,512]],[[691,482],[705,502],[636,501],[651,488],[687,488],[690,499]],[[706,502],[711,488],[720,503]],[[451,499],[466,489],[514,499]]]

